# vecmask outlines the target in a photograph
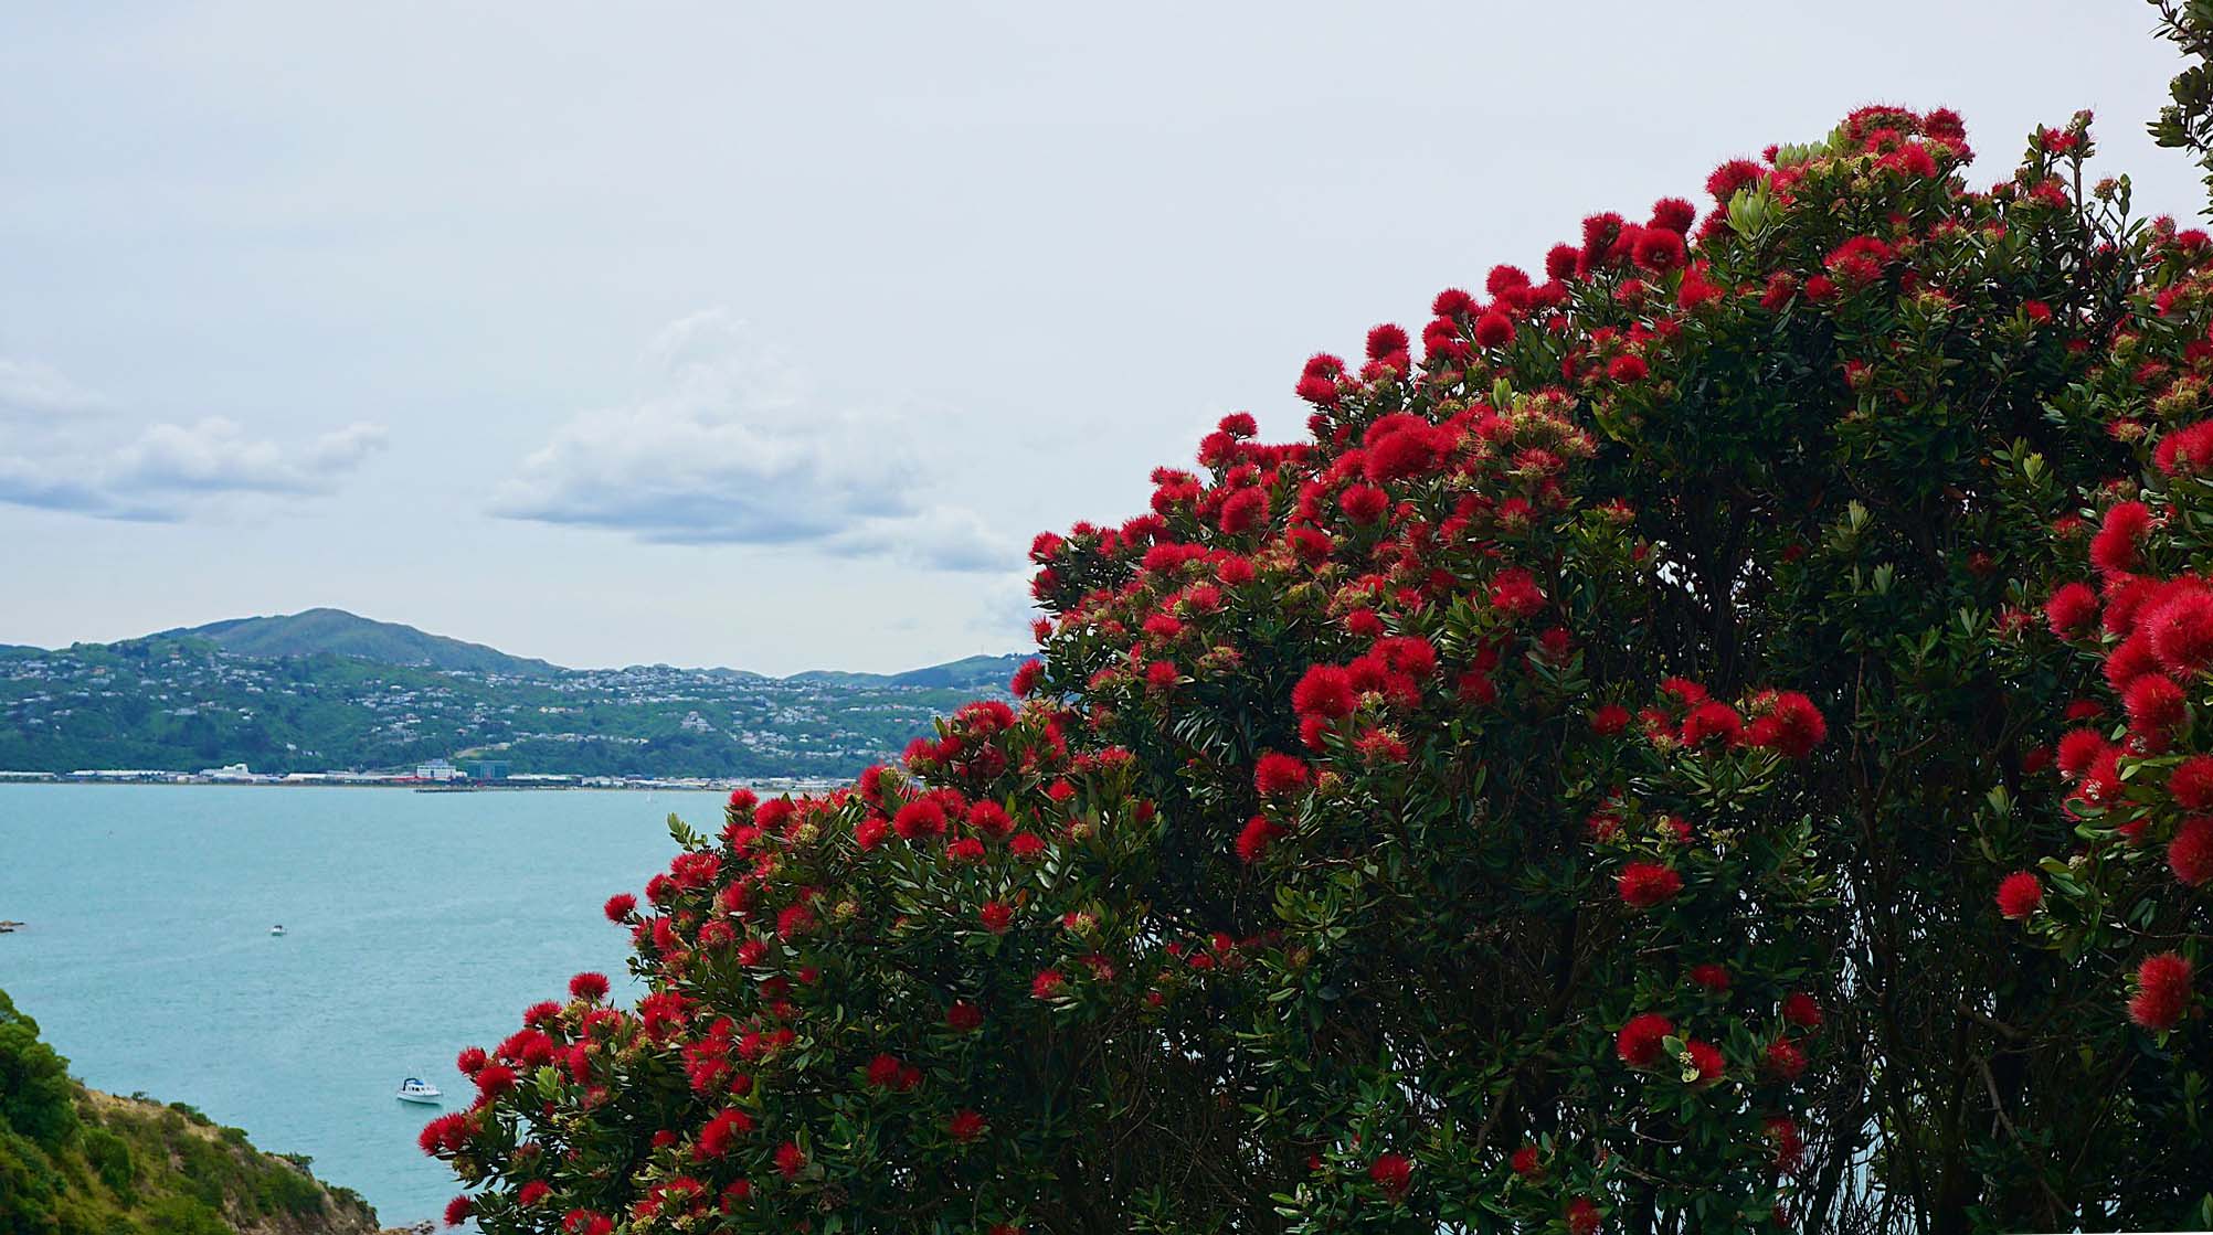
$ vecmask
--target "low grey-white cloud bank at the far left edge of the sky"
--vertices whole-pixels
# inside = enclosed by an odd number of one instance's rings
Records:
[[[31,361],[0,361],[0,403],[46,416],[22,440],[0,440],[0,502],[95,518],[175,522],[235,494],[328,494],[385,447],[385,429],[361,423],[285,449],[226,416],[102,443],[58,416],[104,403]]]

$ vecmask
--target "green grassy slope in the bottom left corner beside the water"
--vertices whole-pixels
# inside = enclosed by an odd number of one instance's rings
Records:
[[[370,1235],[376,1211],[177,1102],[115,1098],[0,992],[0,1235]]]

